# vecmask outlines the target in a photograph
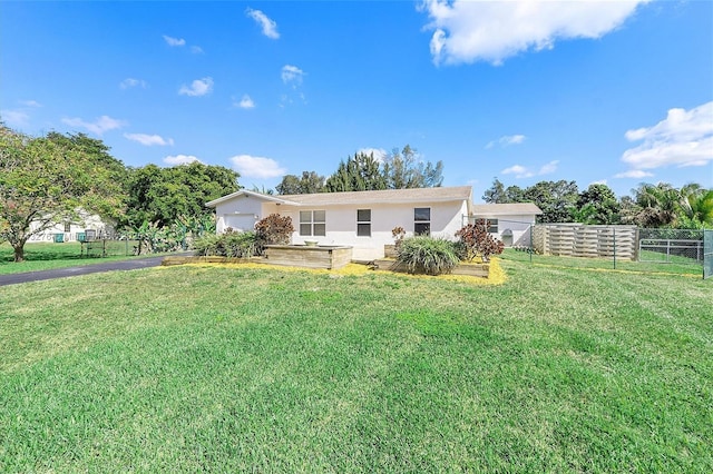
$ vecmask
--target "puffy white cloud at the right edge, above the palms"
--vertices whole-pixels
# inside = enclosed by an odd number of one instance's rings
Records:
[[[671,109],[655,126],[628,130],[625,137],[643,142],[624,151],[622,161],[633,169],[617,177],[652,176],[642,172],[670,165],[706,166],[713,162],[713,101],[691,110]]]

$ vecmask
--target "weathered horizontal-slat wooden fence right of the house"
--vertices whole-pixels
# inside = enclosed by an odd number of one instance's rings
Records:
[[[636,259],[636,226],[538,224],[533,246],[538,254],[570,257]]]

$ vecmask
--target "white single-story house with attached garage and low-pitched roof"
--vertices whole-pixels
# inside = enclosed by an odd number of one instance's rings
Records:
[[[293,244],[316,240],[320,245],[351,246],[352,258],[356,260],[383,257],[384,245],[394,243],[391,233],[394,227],[402,227],[407,236],[429,234],[453,239],[463,225],[480,217],[473,214],[470,186],[283,196],[240,190],[206,203],[206,206],[215,208],[218,234],[228,228],[252,230],[260,219],[279,214],[292,218]],[[509,208],[502,209],[509,211]],[[526,209],[531,215],[521,219],[528,223],[529,229],[535,215],[540,213],[535,205],[520,210]],[[506,218],[497,213],[482,216],[491,221]],[[510,217],[509,214],[505,216]],[[520,214],[512,216],[521,217]],[[514,237],[518,233],[518,239],[521,239],[520,227],[502,227],[506,229]]]

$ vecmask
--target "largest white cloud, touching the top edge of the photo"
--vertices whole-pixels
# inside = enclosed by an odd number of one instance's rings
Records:
[[[500,65],[522,51],[551,49],[556,41],[600,38],[648,0],[472,1],[423,0],[433,30],[433,62]]]

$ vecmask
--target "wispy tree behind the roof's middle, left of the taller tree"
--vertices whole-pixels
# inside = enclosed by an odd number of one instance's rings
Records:
[[[339,164],[324,188],[328,192],[371,191],[385,189],[387,181],[374,155],[359,152]]]

